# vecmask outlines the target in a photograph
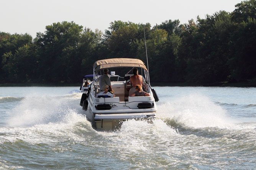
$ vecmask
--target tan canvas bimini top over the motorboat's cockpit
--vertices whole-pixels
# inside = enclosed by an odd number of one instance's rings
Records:
[[[105,59],[105,60],[98,60],[94,63],[95,72],[98,72],[99,70],[102,70],[102,69],[111,68],[111,67],[139,67],[144,70],[147,70],[144,62],[139,59],[126,59],[126,58]]]

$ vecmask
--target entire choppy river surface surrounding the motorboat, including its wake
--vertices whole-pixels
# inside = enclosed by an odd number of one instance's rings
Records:
[[[256,88],[154,88],[153,123],[107,132],[79,87],[0,87],[0,169],[256,168]]]

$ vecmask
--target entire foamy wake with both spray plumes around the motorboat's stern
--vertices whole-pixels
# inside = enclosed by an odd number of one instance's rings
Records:
[[[9,113],[8,126],[0,127],[0,143],[33,144],[34,147],[50,144],[56,145],[53,148],[56,152],[63,152],[63,148],[57,147],[63,142],[88,148],[107,145],[109,150],[122,153],[126,150],[129,155],[138,150],[147,154],[155,144],[164,150],[176,148],[177,152],[184,152],[179,149],[184,141],[189,148],[193,141],[200,150],[203,143],[212,144],[216,140],[220,145],[240,140],[252,143],[256,136],[255,124],[234,123],[225,109],[202,95],[158,102],[157,118],[152,123],[132,119],[114,131],[95,130],[83,115],[80,96],[81,93],[26,96]]]

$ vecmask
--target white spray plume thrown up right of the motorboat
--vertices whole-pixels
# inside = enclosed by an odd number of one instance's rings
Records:
[[[233,126],[225,109],[203,95],[190,94],[158,106],[158,117],[171,125],[194,128]]]

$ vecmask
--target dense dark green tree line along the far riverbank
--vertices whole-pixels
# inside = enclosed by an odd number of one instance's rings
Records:
[[[103,33],[62,21],[34,39],[0,32],[0,82],[80,83],[92,74],[96,60],[124,57],[146,63],[144,30],[151,82],[256,82],[256,0],[185,24],[114,21]]]

